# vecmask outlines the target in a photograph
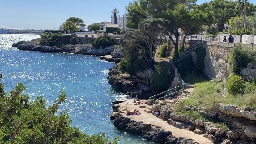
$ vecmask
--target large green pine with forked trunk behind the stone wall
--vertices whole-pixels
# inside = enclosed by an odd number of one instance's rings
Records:
[[[175,54],[178,53],[178,37],[179,37],[179,28],[183,30],[194,29],[199,30],[204,23],[209,23],[211,18],[211,11],[204,10],[193,10],[196,0],[138,0],[133,3],[129,3],[126,6],[128,13],[126,14],[127,23],[126,25],[135,26],[139,24],[139,21],[143,19],[152,19],[152,18],[162,18],[170,21],[168,25],[162,25],[162,28],[165,29],[164,33],[170,38],[172,43],[175,46]],[[142,11],[140,11],[142,10]],[[139,12],[138,12],[139,11]],[[190,14],[189,14],[190,13]],[[201,14],[202,13],[202,14]],[[201,19],[202,20],[198,20]],[[208,19],[207,19],[208,18]],[[205,19],[207,19],[205,21]],[[193,24],[190,23],[193,21]],[[194,26],[195,25],[195,26]],[[129,27],[131,28],[131,27]],[[187,32],[189,34],[189,32]],[[176,40],[173,40],[172,35],[176,37]],[[186,37],[185,37],[186,38]]]

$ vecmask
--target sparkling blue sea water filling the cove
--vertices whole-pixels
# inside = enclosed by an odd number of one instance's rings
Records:
[[[120,144],[156,144],[141,135],[118,130],[110,120],[111,102],[126,98],[108,84],[108,72],[115,63],[98,56],[21,51],[12,47],[18,41],[36,38],[40,35],[0,34],[0,73],[7,93],[21,82],[27,87],[24,93],[30,100],[42,95],[50,106],[64,90],[66,100],[56,115],[68,111],[71,125],[83,133],[101,132],[111,140],[117,136]]]

